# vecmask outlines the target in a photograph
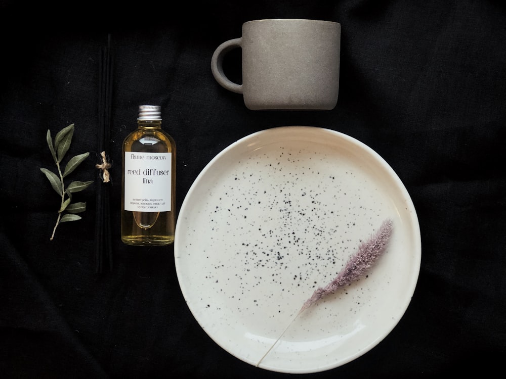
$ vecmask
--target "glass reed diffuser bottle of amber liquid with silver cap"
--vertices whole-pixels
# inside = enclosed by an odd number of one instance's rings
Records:
[[[159,109],[159,107],[155,106],[141,106],[141,112],[142,107]],[[168,156],[167,153],[170,156]],[[126,157],[126,155],[128,155],[128,157]],[[160,119],[138,119],[137,129],[126,136],[123,141],[122,156],[121,241],[127,245],[135,246],[161,246],[172,244],[174,242],[176,226],[176,143],[174,139],[161,129]],[[154,161],[155,158],[158,160],[160,158],[159,156],[169,158],[170,168],[165,167],[168,169],[160,169],[157,167],[157,169],[150,170],[150,162]],[[139,166],[135,167],[137,169],[129,170],[129,168],[132,167],[128,165],[128,162],[125,163],[125,160],[128,161],[129,157],[140,161],[140,163],[138,163]],[[159,176],[160,174],[161,176]],[[131,195],[125,199],[125,192],[128,195],[129,191],[129,188],[125,188],[125,184],[128,186],[129,183],[131,183],[128,178],[125,180],[125,176],[127,175],[135,179],[136,192],[135,196]],[[166,184],[167,175],[170,175],[170,184]],[[146,195],[142,192],[143,187],[153,188],[159,185],[157,184],[157,180],[160,179],[165,180],[165,185],[155,188],[155,191],[157,194],[161,195],[153,196],[152,193]],[[126,204],[125,200],[127,202]],[[166,209],[166,202],[170,202],[170,207],[168,207],[170,210],[156,210],[160,204],[163,204]],[[129,203],[136,205],[130,205]],[[132,207],[141,207],[142,209],[125,209]],[[152,210],[153,208],[155,210]]]

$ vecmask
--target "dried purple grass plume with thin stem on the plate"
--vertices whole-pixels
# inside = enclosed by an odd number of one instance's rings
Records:
[[[286,326],[286,328],[283,330],[283,333],[279,336],[279,338],[274,342],[274,344],[271,345],[270,349],[258,361],[257,367],[266,357],[266,355],[269,354],[274,345],[276,345],[276,343],[281,339],[291,323],[302,312],[311,307],[314,303],[322,299],[324,296],[333,294],[340,288],[349,286],[355,280],[364,277],[372,265],[384,253],[391,233],[392,220],[387,219],[382,223],[381,227],[376,231],[376,233],[370,235],[366,241],[362,241],[358,247],[357,252],[349,259],[345,267],[339,272],[338,276],[336,276],[325,287],[318,288],[313,293],[313,295],[308,300],[306,300],[302,308],[299,310],[299,313],[297,313],[297,315],[292,319],[288,326]]]

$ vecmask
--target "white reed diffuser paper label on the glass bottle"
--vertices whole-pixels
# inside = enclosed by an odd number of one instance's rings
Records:
[[[126,211],[171,210],[172,154],[125,152],[124,208]]]

